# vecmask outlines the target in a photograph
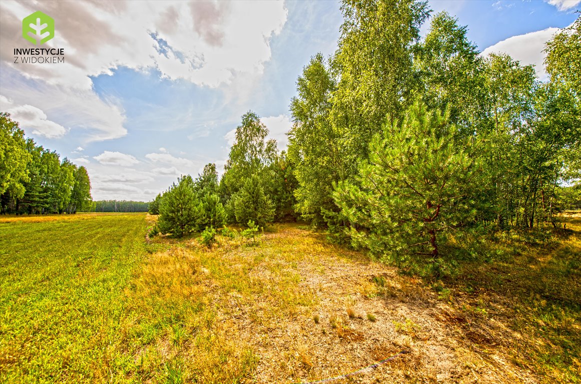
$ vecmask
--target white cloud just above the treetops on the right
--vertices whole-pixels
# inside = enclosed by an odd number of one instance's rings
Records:
[[[523,35],[510,37],[497,42],[482,51],[483,56],[490,53],[507,53],[522,65],[533,64],[535,72],[540,80],[547,80],[548,75],[544,67],[546,54],[543,52],[547,41],[560,31],[559,28],[547,28],[545,30],[530,32]]]

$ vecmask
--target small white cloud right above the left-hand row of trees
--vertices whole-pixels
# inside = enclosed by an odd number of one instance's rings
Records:
[[[40,135],[47,138],[63,137],[67,132],[62,125],[48,120],[41,109],[24,104],[16,105],[11,99],[0,95],[0,109],[10,113],[10,117],[20,123],[20,128],[30,135]]]

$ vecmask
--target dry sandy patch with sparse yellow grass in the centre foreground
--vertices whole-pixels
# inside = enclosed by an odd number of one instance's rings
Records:
[[[292,225],[265,234],[259,247],[225,246],[217,254],[253,287],[232,288],[204,268],[219,308],[216,326],[260,357],[248,382],[542,381],[515,364],[514,342],[528,336],[510,328],[494,293],[485,296],[497,307],[493,316],[467,315],[452,305],[461,298],[446,302],[420,279]],[[286,292],[281,277],[296,285]]]

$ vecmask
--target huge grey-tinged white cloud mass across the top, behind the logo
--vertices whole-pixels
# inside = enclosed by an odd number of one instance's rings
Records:
[[[52,84],[83,89],[91,87],[88,76],[110,74],[119,66],[156,68],[163,77],[211,86],[229,82],[235,73],[261,72],[271,58],[269,40],[280,33],[288,13],[280,1],[107,5],[6,1],[2,2],[2,46],[21,45],[19,20],[37,8],[60,21],[47,45],[64,48],[66,60],[62,65],[18,69]],[[10,52],[2,53],[8,63]]]

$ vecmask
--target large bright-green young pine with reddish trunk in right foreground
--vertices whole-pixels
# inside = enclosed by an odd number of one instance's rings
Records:
[[[372,140],[357,184],[339,184],[333,194],[352,224],[354,244],[383,260],[439,273],[446,261],[443,235],[475,210],[469,190],[478,184],[478,167],[468,142],[455,142],[456,133],[449,113],[417,102],[401,124]]]

